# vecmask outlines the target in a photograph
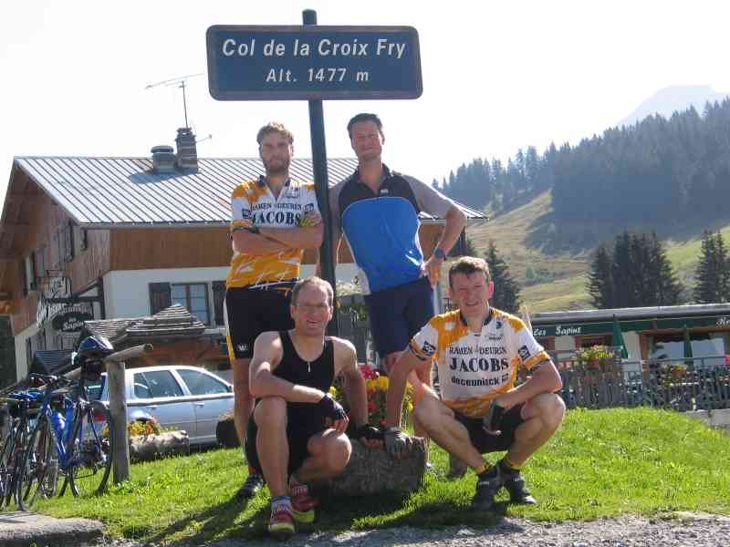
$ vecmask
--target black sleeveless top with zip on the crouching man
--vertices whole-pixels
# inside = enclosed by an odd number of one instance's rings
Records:
[[[281,338],[282,356],[281,362],[274,369],[273,375],[282,380],[287,380],[299,386],[314,387],[325,393],[329,392],[332,382],[335,379],[335,356],[334,344],[330,338],[325,338],[325,345],[322,353],[314,361],[308,362],[302,359],[288,331],[279,331]],[[311,403],[287,403],[289,420],[297,418],[306,419],[307,415],[315,410]]]

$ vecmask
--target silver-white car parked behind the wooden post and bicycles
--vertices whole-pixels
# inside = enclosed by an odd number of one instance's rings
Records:
[[[109,404],[106,373],[87,382],[89,399]],[[234,387],[197,366],[143,366],[126,370],[127,421],[155,418],[184,429],[191,445],[215,444],[218,418],[234,410]]]

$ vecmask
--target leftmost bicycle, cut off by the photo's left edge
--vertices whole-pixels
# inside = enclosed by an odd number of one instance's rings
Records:
[[[5,416],[9,418],[7,434],[0,448],[0,507],[10,504],[15,495],[16,481],[20,471],[26,439],[35,424],[40,410],[43,392],[29,389],[27,392],[14,392],[2,400],[7,405]]]

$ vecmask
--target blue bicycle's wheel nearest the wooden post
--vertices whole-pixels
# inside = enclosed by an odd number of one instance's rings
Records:
[[[100,494],[107,487],[111,470],[114,431],[109,409],[93,401],[78,413],[73,432],[67,470],[71,492],[74,496]]]

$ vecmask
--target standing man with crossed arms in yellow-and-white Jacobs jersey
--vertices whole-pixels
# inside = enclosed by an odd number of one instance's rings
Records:
[[[318,249],[323,233],[314,184],[289,178],[294,153],[291,132],[272,122],[259,129],[256,142],[266,175],[241,182],[231,196],[234,254],[225,282],[235,429],[242,442],[252,411],[248,365],[255,338],[294,326],[289,293],[297,282],[304,249]],[[249,467],[237,497],[253,497],[263,483],[261,475]]]

